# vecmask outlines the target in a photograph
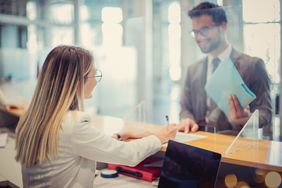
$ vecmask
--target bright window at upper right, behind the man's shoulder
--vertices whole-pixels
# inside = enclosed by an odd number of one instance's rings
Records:
[[[279,0],[243,1],[244,48],[260,57],[273,83],[279,83],[280,4]],[[258,14],[263,12],[263,14]]]

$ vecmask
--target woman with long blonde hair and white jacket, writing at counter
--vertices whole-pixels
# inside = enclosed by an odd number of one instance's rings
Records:
[[[83,112],[83,99],[91,97],[100,76],[83,48],[58,46],[48,54],[16,129],[24,187],[93,187],[96,161],[135,166],[174,138],[175,126],[130,142],[98,130]]]

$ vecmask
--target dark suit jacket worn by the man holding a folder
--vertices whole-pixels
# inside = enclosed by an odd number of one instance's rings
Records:
[[[271,122],[271,99],[269,89],[269,77],[262,59],[250,57],[232,49],[230,58],[235,64],[245,84],[256,94],[256,99],[250,103],[250,111],[259,110],[260,127]],[[180,117],[192,118],[196,122],[205,119],[207,111],[207,94],[204,89],[207,78],[207,58],[188,67],[185,85],[181,95]],[[224,78],[223,78],[224,79]],[[222,88],[224,89],[224,88]],[[232,126],[225,114],[215,106],[210,118],[216,119],[217,131],[240,130],[242,126]]]

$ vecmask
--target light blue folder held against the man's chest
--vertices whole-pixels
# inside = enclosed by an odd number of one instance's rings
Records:
[[[207,95],[228,115],[228,101],[235,95],[245,108],[256,95],[248,88],[231,59],[220,63],[205,85]]]

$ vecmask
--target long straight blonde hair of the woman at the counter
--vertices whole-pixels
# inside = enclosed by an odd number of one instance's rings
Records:
[[[68,110],[83,110],[83,85],[92,67],[92,55],[79,47],[58,46],[48,54],[16,129],[16,160],[22,165],[36,165],[57,154],[63,117]]]

